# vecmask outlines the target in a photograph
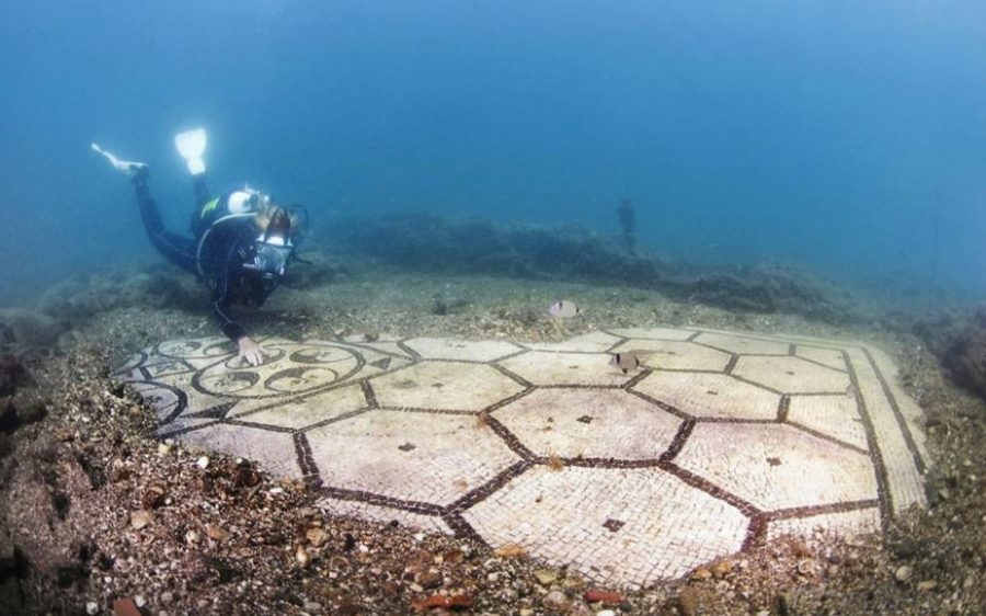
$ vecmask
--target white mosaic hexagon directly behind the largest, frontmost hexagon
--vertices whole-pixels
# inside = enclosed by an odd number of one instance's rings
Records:
[[[656,459],[681,424],[619,390],[539,389],[493,417],[540,456]]]

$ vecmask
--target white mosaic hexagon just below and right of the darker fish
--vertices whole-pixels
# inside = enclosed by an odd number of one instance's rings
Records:
[[[656,370],[633,386],[695,418],[777,419],[780,395],[727,375]]]

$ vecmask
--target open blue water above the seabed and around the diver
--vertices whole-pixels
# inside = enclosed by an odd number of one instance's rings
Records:
[[[986,296],[986,3],[42,0],[0,4],[0,305],[154,259],[130,187],[205,126],[216,192],[639,233]]]

